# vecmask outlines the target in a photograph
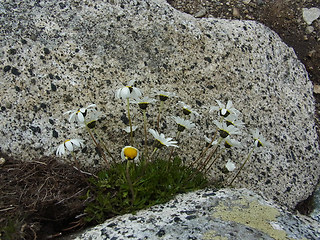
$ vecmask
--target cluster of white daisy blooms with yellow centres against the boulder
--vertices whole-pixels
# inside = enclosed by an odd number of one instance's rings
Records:
[[[126,100],[127,102],[129,126],[126,126],[125,128],[123,128],[123,130],[126,133],[130,134],[131,144],[122,148],[120,156],[121,156],[121,159],[124,161],[128,161],[128,160],[137,161],[139,158],[138,148],[133,147],[134,145],[133,132],[137,131],[138,126],[132,125],[129,103],[137,104],[139,108],[143,111],[144,118],[146,118],[146,110],[149,104],[160,102],[158,119],[157,119],[158,121],[156,126],[154,128],[147,128],[146,126],[147,121],[146,119],[144,119],[144,126],[143,126],[144,134],[145,134],[144,144],[145,145],[147,144],[147,133],[149,133],[153,136],[153,138],[155,139],[155,142],[157,143],[157,145],[155,145],[156,146],[155,149],[158,149],[162,146],[178,148],[177,140],[173,140],[173,138],[171,137],[165,137],[163,133],[159,132],[159,129],[160,129],[159,122],[161,119],[161,113],[162,113],[162,108],[164,107],[164,102],[166,102],[171,97],[175,97],[176,95],[171,92],[157,91],[155,92],[155,96],[158,97],[157,100],[155,98],[150,98],[147,96],[143,97],[142,91],[139,88],[134,87],[134,83],[135,81],[132,80],[124,87],[117,89],[115,92],[116,99]],[[236,138],[239,139],[239,135],[242,135],[245,130],[245,124],[241,120],[242,115],[240,111],[233,106],[233,103],[231,100],[227,101],[226,104],[223,104],[219,100],[216,100],[216,103],[217,103],[217,106],[210,107],[210,113],[217,114],[216,116],[218,119],[214,120],[213,123],[217,128],[218,134],[216,134],[213,138],[208,138],[204,136],[205,141],[209,143],[210,146],[215,147],[214,153],[216,152],[218,147],[224,150],[230,149],[233,147],[242,147],[242,144],[236,139]],[[190,107],[186,103],[182,101],[178,101],[178,105],[182,110],[181,114],[183,114],[185,117],[189,119],[184,119],[180,116],[172,117],[173,121],[177,125],[176,138],[178,138],[180,133],[183,132],[184,130],[190,130],[192,128],[195,128],[196,124],[193,123],[192,120],[195,117],[200,116],[200,114],[197,111],[195,111],[192,107]],[[96,107],[97,107],[96,104],[90,104],[87,107],[81,107],[80,109],[67,111],[64,114],[69,115],[68,117],[69,122],[71,123],[75,122],[80,124],[81,126],[86,127],[86,129],[89,131],[90,136],[93,138],[97,147],[101,149],[100,144],[93,137],[93,134],[91,132],[91,129],[95,128],[96,121],[100,117],[100,113],[96,110]],[[251,134],[253,136],[253,149],[271,146],[271,144],[265,140],[265,138],[262,136],[262,134],[258,129],[251,130]],[[66,150],[73,152],[77,148],[80,148],[82,146],[84,146],[84,140],[77,139],[77,138],[68,139],[59,145],[58,149],[56,150],[56,154],[57,156],[62,156],[66,153]],[[208,148],[210,146],[208,146]],[[108,150],[107,152],[108,154],[110,154]],[[209,162],[208,160],[209,157],[203,162],[201,160],[201,157],[199,159],[200,159],[199,160],[200,164],[197,163],[199,164],[199,166],[201,166],[201,164],[208,164]],[[225,168],[228,171],[234,171],[237,168],[236,163],[234,163],[229,159],[225,164]]]

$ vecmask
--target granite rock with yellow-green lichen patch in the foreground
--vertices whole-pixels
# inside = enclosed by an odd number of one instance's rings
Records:
[[[68,239],[319,239],[319,223],[246,189],[202,190]]]

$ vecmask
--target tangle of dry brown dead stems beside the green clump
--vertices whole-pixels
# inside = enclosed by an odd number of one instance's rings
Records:
[[[44,239],[79,225],[87,176],[54,158],[0,165],[0,230],[14,225],[17,239]],[[62,233],[60,233],[62,232]]]

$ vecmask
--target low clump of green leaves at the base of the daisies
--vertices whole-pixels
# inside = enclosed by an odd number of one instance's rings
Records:
[[[102,223],[115,215],[165,203],[178,193],[203,188],[208,181],[201,172],[175,158],[116,163],[92,177],[90,183],[85,220]]]

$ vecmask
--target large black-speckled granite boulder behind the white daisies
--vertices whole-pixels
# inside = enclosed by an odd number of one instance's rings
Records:
[[[187,161],[214,132],[209,106],[231,99],[247,126],[274,145],[253,155],[236,185],[289,207],[313,191],[320,164],[312,84],[294,51],[267,27],[195,19],[164,0],[3,1],[0,12],[1,151],[53,155],[66,138],[81,137],[88,143],[78,159],[102,163],[90,138],[62,115],[96,103],[105,113],[98,131],[120,155],[126,118],[114,91],[136,79],[145,93],[174,91],[202,114],[191,138],[181,138]],[[169,115],[168,136],[175,132]],[[247,153],[233,153],[237,166]]]

